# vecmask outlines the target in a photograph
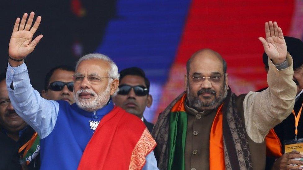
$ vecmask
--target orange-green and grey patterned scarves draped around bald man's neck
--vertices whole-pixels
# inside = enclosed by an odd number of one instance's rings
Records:
[[[246,129],[238,112],[237,96],[228,95],[217,110],[210,132],[210,169],[252,169]],[[187,113],[186,92],[179,95],[160,115],[152,135],[157,142],[155,155],[160,169],[185,169],[184,149]],[[169,134],[169,135],[167,135]]]

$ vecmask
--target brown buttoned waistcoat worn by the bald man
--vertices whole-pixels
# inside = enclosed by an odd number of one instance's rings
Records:
[[[244,119],[243,100],[245,95],[237,98],[237,108]],[[209,169],[209,140],[210,129],[216,116],[216,110],[208,112],[198,112],[185,105],[188,113],[188,125],[185,142],[185,170]],[[248,146],[251,153],[253,169],[265,168],[265,142],[256,143],[248,137]]]

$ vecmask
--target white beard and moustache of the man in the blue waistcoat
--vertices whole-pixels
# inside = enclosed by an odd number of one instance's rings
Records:
[[[110,84],[110,83],[109,83]],[[103,108],[109,98],[110,98],[110,85],[107,85],[105,91],[97,94],[92,89],[80,89],[76,93],[74,92],[75,102],[81,109],[85,111],[96,111],[100,108]],[[93,94],[93,98],[80,98],[79,94],[82,92],[87,92]]]

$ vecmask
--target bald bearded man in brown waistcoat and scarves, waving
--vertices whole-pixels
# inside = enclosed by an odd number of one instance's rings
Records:
[[[289,115],[296,96],[282,30],[269,21],[265,34],[259,40],[269,56],[269,88],[261,93],[232,93],[227,64],[213,50],[188,60],[186,91],[160,114],[152,132],[158,168],[265,168],[264,138]]]

